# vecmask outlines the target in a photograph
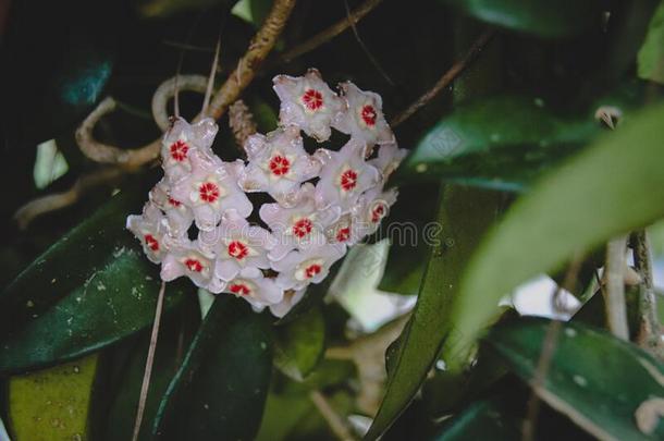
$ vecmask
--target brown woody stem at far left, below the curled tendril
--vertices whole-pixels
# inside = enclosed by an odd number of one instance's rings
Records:
[[[78,177],[70,189],[62,193],[41,196],[25,204],[16,210],[14,219],[16,220],[19,228],[25,230],[39,216],[76,204],[78,199],[90,189],[118,181],[124,172],[125,171],[120,168],[109,167],[84,174]]]

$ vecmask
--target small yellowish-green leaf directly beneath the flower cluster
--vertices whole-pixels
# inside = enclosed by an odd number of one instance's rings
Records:
[[[320,307],[274,333],[274,365],[286,376],[302,381],[320,362],[325,351],[325,323]]]

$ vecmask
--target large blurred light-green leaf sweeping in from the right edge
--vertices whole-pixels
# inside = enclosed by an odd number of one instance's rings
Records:
[[[659,106],[626,121],[512,207],[463,278],[452,315],[462,346],[520,282],[664,215],[664,194],[655,191],[664,186],[662,119]]]

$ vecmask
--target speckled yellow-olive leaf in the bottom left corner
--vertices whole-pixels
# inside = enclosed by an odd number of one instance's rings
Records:
[[[84,440],[97,355],[9,380],[9,426],[15,440]]]

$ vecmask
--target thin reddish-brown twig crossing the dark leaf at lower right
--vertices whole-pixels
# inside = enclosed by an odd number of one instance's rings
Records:
[[[556,292],[554,295],[556,295],[560,290],[567,290],[570,292],[574,290],[574,285],[576,284],[582,262],[583,258],[580,255],[573,258],[571,264],[569,264],[567,272],[565,273],[563,284],[561,286],[556,286]],[[553,360],[553,354],[555,353],[555,347],[557,345],[558,335],[562,328],[562,321],[552,320],[546,329],[546,334],[544,335],[544,341],[542,343],[542,352],[540,353],[534,376],[530,382],[532,393],[528,400],[526,418],[524,419],[524,426],[521,428],[524,441],[534,440],[534,429],[537,427],[537,420],[540,413],[540,399],[538,392],[543,388],[544,380],[546,380],[546,376],[549,375],[549,368],[551,367],[551,362]]]

